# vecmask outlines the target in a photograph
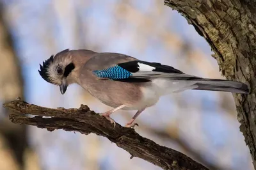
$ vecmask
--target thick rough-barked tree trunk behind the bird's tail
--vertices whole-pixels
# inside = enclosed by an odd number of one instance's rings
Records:
[[[211,45],[228,80],[250,86],[250,95],[234,95],[237,120],[256,169],[256,1],[165,0]]]

